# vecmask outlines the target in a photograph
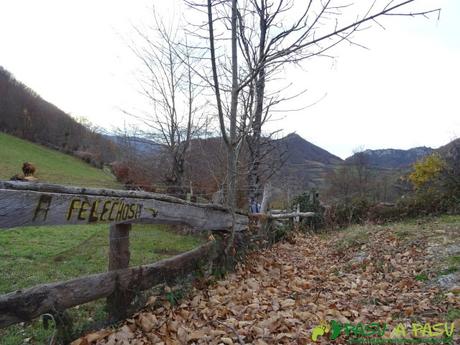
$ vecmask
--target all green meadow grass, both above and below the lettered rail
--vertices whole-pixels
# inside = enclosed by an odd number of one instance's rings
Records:
[[[120,188],[114,177],[83,161],[0,133],[0,179],[20,173],[23,162],[34,163],[40,181],[86,187]],[[131,265],[147,264],[190,250],[201,243],[166,226],[133,226]],[[37,284],[104,272],[108,265],[108,225],[28,227],[0,231],[0,294]],[[104,301],[69,310],[75,328],[104,319]],[[0,330],[0,345],[47,344],[53,333],[40,320]]]

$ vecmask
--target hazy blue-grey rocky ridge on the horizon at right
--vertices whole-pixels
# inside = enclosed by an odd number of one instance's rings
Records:
[[[411,166],[417,160],[431,154],[434,149],[430,147],[414,147],[409,150],[398,149],[380,149],[365,150],[362,154],[365,157],[366,164],[374,168],[383,169],[402,169]],[[345,162],[353,163],[357,155],[348,157]]]

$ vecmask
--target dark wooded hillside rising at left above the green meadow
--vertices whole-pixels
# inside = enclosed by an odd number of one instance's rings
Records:
[[[97,164],[115,160],[116,145],[80,122],[0,66],[1,132],[65,153],[86,155]]]

